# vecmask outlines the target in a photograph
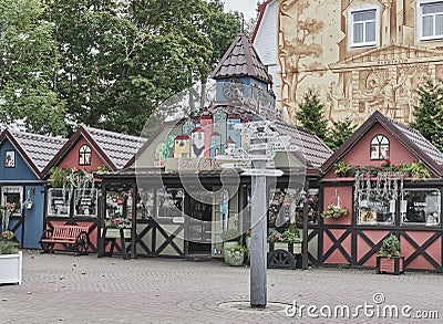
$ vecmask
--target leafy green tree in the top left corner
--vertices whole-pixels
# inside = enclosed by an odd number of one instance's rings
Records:
[[[0,0],[0,123],[63,134],[64,102],[54,80],[59,52],[45,7],[39,0]]]

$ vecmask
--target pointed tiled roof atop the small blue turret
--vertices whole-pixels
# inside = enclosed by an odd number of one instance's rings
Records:
[[[233,76],[251,76],[268,84],[272,83],[271,76],[244,33],[237,35],[210,74],[210,77],[216,80]]]

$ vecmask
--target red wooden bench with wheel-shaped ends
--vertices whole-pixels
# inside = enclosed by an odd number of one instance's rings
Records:
[[[87,254],[90,248],[89,227],[61,224],[52,230],[43,231],[40,244],[44,252],[53,253],[55,243],[68,244],[70,250],[79,254]]]

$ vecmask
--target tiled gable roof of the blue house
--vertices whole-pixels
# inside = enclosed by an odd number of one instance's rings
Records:
[[[40,178],[43,175],[43,169],[68,140],[66,138],[37,135],[13,129],[6,129],[0,136],[0,142],[3,142],[4,138],[8,138]]]

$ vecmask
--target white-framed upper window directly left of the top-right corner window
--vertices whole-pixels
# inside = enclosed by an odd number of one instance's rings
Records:
[[[374,46],[378,42],[375,8],[350,12],[350,48]]]

